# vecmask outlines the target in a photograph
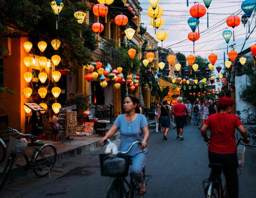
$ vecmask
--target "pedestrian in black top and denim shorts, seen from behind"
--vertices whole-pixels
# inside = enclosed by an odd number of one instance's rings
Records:
[[[163,100],[162,106],[159,109],[157,121],[159,121],[160,119],[163,135],[164,135],[163,139],[165,140],[167,140],[167,133],[170,127],[170,114],[171,114],[171,110],[169,106],[167,106],[167,101]]]

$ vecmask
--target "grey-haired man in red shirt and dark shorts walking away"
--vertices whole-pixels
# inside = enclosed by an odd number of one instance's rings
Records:
[[[188,109],[187,107],[182,103],[182,98],[177,98],[178,103],[173,105],[173,115],[175,117],[176,122],[176,130],[177,130],[177,139],[184,140],[182,134],[183,134],[183,127],[184,122],[186,121],[186,116],[188,116]]]

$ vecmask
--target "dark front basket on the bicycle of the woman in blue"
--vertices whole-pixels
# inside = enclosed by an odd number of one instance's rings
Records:
[[[129,165],[131,164],[131,156],[124,154],[99,154],[99,157],[102,176],[128,176]]]

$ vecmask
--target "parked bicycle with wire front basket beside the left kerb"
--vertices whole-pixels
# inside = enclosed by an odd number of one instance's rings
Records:
[[[22,134],[15,130],[14,128],[8,128],[8,130],[12,132],[18,133],[22,137],[30,137],[31,139],[37,139],[36,136],[30,134]],[[26,147],[35,146],[31,159],[28,159],[26,154]],[[9,151],[10,156],[8,157],[8,161],[4,167],[4,171],[2,173],[2,177],[0,179],[0,190],[3,188],[4,183],[6,182],[13,165],[19,154],[22,154],[26,160],[25,170],[33,169],[34,174],[36,176],[42,177],[49,174],[50,178],[50,171],[53,169],[55,162],[57,151],[56,147],[53,146],[52,143],[43,141],[35,141],[33,143],[27,143],[26,141],[22,141],[19,139],[13,139],[10,137],[9,140]],[[19,166],[19,165],[18,165]]]

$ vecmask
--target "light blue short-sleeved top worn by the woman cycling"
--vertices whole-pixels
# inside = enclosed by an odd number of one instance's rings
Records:
[[[143,137],[142,128],[148,125],[147,119],[143,114],[137,114],[137,117],[132,122],[126,121],[125,115],[119,115],[114,122],[114,125],[119,128],[121,134],[120,151],[127,151],[132,143],[136,141],[141,142]],[[128,155],[135,156],[141,152],[147,153],[147,148],[141,150],[140,147],[135,145]]]

